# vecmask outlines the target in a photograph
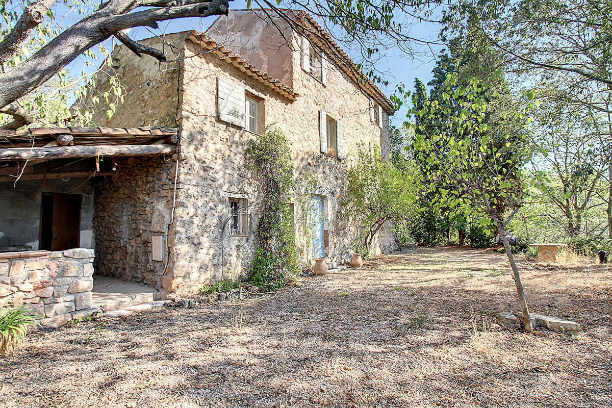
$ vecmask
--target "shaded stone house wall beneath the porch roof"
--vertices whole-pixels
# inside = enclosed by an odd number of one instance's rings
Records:
[[[162,236],[174,190],[170,157],[116,158],[117,174],[95,188],[95,270],[106,276],[162,287],[166,253],[152,259],[152,239]]]

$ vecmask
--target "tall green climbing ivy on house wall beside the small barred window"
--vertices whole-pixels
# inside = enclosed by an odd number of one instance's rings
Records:
[[[261,196],[249,280],[264,291],[276,290],[299,273],[287,204],[295,187],[291,150],[285,134],[272,128],[248,141],[245,155],[249,178]]]

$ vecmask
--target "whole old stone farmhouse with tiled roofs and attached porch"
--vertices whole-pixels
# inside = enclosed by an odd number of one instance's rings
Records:
[[[341,212],[346,172],[359,149],[388,154],[393,106],[313,18],[293,15],[299,31],[244,10],[206,34],[141,41],[170,63],[117,46],[125,96],[111,119],[93,108],[104,127],[4,135],[21,144],[0,144],[0,251],[9,251],[0,253],[0,306],[38,305],[56,325],[95,308],[103,276],[154,297],[244,276],[259,217],[244,150],[271,127],[291,145],[299,188],[287,204],[302,261],[348,262],[360,222]],[[373,245],[390,251],[395,240],[383,229]]]

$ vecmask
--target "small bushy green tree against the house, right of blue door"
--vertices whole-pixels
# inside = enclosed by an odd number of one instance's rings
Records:
[[[359,150],[347,182],[345,211],[363,225],[359,250],[367,256],[376,233],[385,224],[414,213],[419,183],[414,172],[396,168],[378,149]]]

